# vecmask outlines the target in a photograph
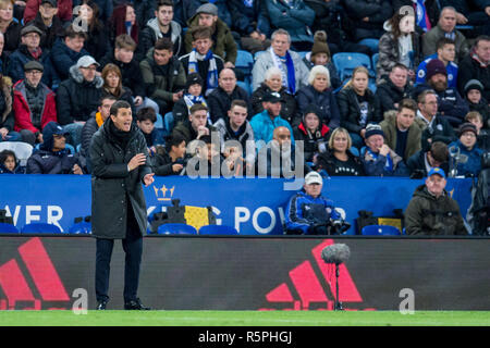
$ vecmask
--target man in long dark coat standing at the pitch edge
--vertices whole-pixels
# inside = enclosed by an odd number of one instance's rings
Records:
[[[93,164],[91,226],[97,238],[97,309],[109,301],[109,272],[114,239],[122,239],[126,253],[124,268],[124,309],[148,310],[137,298],[143,234],[146,232],[146,201],[142,184],[154,179],[147,163],[143,134],[133,123],[131,105],[117,101],[110,117],[97,130],[90,144]]]

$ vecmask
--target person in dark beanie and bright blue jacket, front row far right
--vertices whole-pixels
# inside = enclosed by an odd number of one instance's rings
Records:
[[[457,175],[477,177],[481,171],[481,156],[483,151],[477,145],[478,130],[473,123],[463,123],[458,128],[458,140],[451,142],[448,148],[451,152],[460,152],[467,158],[464,163],[457,164]]]

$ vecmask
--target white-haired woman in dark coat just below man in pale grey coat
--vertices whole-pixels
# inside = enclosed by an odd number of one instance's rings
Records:
[[[264,82],[252,94],[250,102],[254,109],[254,115],[264,111],[262,98],[271,91],[277,91],[281,95],[281,117],[286,120],[292,126],[299,124],[301,120],[296,120],[296,99],[289,94],[286,87],[282,86],[282,72],[275,66],[267,70]]]

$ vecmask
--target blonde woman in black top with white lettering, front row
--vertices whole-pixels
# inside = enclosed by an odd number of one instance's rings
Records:
[[[345,128],[332,132],[329,149],[317,158],[316,170],[326,171],[329,176],[364,176],[360,159],[351,152],[352,139]]]

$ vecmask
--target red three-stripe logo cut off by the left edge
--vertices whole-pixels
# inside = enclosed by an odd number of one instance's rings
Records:
[[[22,262],[12,259],[0,265],[0,310],[70,309],[70,297],[40,239],[23,244],[19,253]]]

